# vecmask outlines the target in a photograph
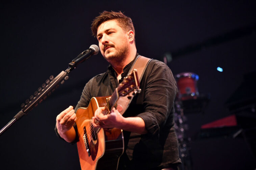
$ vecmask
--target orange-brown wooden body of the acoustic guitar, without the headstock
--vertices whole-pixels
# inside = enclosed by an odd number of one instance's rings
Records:
[[[79,137],[77,149],[82,170],[117,169],[119,158],[124,152],[121,129],[96,129],[91,123],[95,111],[106,105],[106,98],[93,97],[87,108],[78,108],[76,111]]]

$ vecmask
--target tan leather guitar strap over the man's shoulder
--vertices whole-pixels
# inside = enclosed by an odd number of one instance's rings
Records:
[[[137,58],[135,59],[135,61],[133,62],[133,65],[132,65],[131,69],[129,70],[129,73],[131,71],[133,71],[134,69],[137,69],[137,75],[138,75],[138,79],[139,79],[139,82],[140,82],[144,73],[145,73],[145,71],[146,71],[146,69],[147,69],[147,67],[148,67],[148,64],[151,60],[152,59],[150,59],[150,58],[138,55]],[[132,96],[132,93],[133,92],[130,92],[130,96]],[[129,107],[129,105],[132,101],[132,98],[133,98],[133,96],[130,99],[128,99],[127,96],[122,96],[118,99],[117,110],[120,112],[121,115],[123,115],[124,112]]]

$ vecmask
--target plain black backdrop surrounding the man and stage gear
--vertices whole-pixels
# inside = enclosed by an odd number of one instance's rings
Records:
[[[0,128],[50,75],[91,44],[92,19],[121,10],[133,20],[139,54],[168,62],[173,74],[199,75],[210,94],[204,113],[187,114],[193,169],[255,169],[243,138],[195,138],[203,124],[229,116],[225,102],[256,71],[256,1],[5,1],[0,4]],[[105,72],[101,54],[70,74],[47,100],[0,136],[0,169],[79,169],[76,145],[56,137],[56,116],[76,105],[85,83]],[[223,72],[218,72],[222,67]]]

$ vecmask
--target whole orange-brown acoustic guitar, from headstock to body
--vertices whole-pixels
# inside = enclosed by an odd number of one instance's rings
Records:
[[[117,106],[120,97],[139,92],[137,71],[132,71],[109,97],[93,97],[87,108],[76,111],[76,125],[79,141],[78,155],[82,170],[112,170],[118,168],[119,158],[124,152],[124,138],[121,129],[95,128],[92,117],[99,107],[105,107],[104,115]]]

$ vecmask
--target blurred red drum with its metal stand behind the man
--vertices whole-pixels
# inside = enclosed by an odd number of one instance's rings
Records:
[[[197,83],[199,76],[195,73],[184,72],[175,75],[178,94],[175,99],[175,130],[179,142],[179,154],[182,161],[182,170],[192,169],[189,154],[190,137],[186,136],[188,125],[185,123],[185,114],[201,113],[206,107],[209,96],[199,95]]]

